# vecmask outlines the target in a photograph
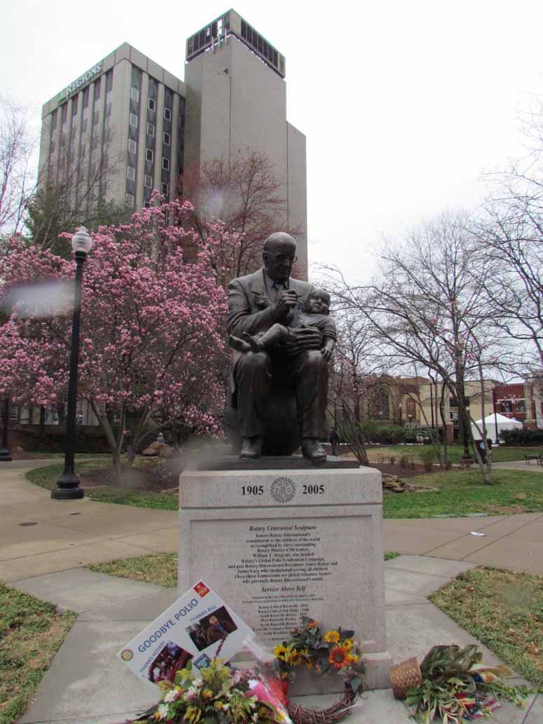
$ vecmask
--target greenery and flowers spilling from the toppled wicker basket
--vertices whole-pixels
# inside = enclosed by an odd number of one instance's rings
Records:
[[[506,666],[487,666],[475,645],[434,646],[421,663],[422,682],[407,692],[406,704],[421,724],[437,717],[442,724],[460,724],[490,715],[500,701],[522,706],[531,690],[507,686]]]

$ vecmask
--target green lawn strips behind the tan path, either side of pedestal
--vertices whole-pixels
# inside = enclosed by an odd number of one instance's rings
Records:
[[[105,467],[109,460],[82,460],[77,471],[96,470]],[[37,468],[27,473],[27,478],[48,490],[54,488],[62,473],[62,465]],[[436,488],[435,492],[387,493],[384,495],[384,518],[434,518],[439,515],[460,516],[470,513],[507,515],[532,513],[543,510],[543,472],[532,473],[513,470],[496,470],[492,473],[494,484],[484,485],[476,468],[451,470],[446,473],[426,473],[411,481]],[[177,510],[177,494],[146,492],[112,485],[85,489],[90,500],[135,505],[138,508]]]

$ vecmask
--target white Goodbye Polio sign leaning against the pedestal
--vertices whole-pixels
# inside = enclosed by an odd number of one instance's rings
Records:
[[[136,676],[151,684],[174,681],[192,662],[205,668],[221,647],[229,660],[254,636],[251,628],[204,581],[135,636],[117,656]]]

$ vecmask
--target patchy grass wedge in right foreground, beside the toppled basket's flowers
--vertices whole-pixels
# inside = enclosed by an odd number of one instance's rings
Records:
[[[543,689],[543,576],[473,568],[429,599],[508,666]]]

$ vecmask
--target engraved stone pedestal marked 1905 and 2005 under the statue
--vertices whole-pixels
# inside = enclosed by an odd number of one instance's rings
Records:
[[[266,644],[305,615],[324,630],[353,628],[366,686],[387,688],[381,473],[287,460],[182,473],[180,592],[203,578]],[[291,693],[339,692],[343,681],[300,671]]]

